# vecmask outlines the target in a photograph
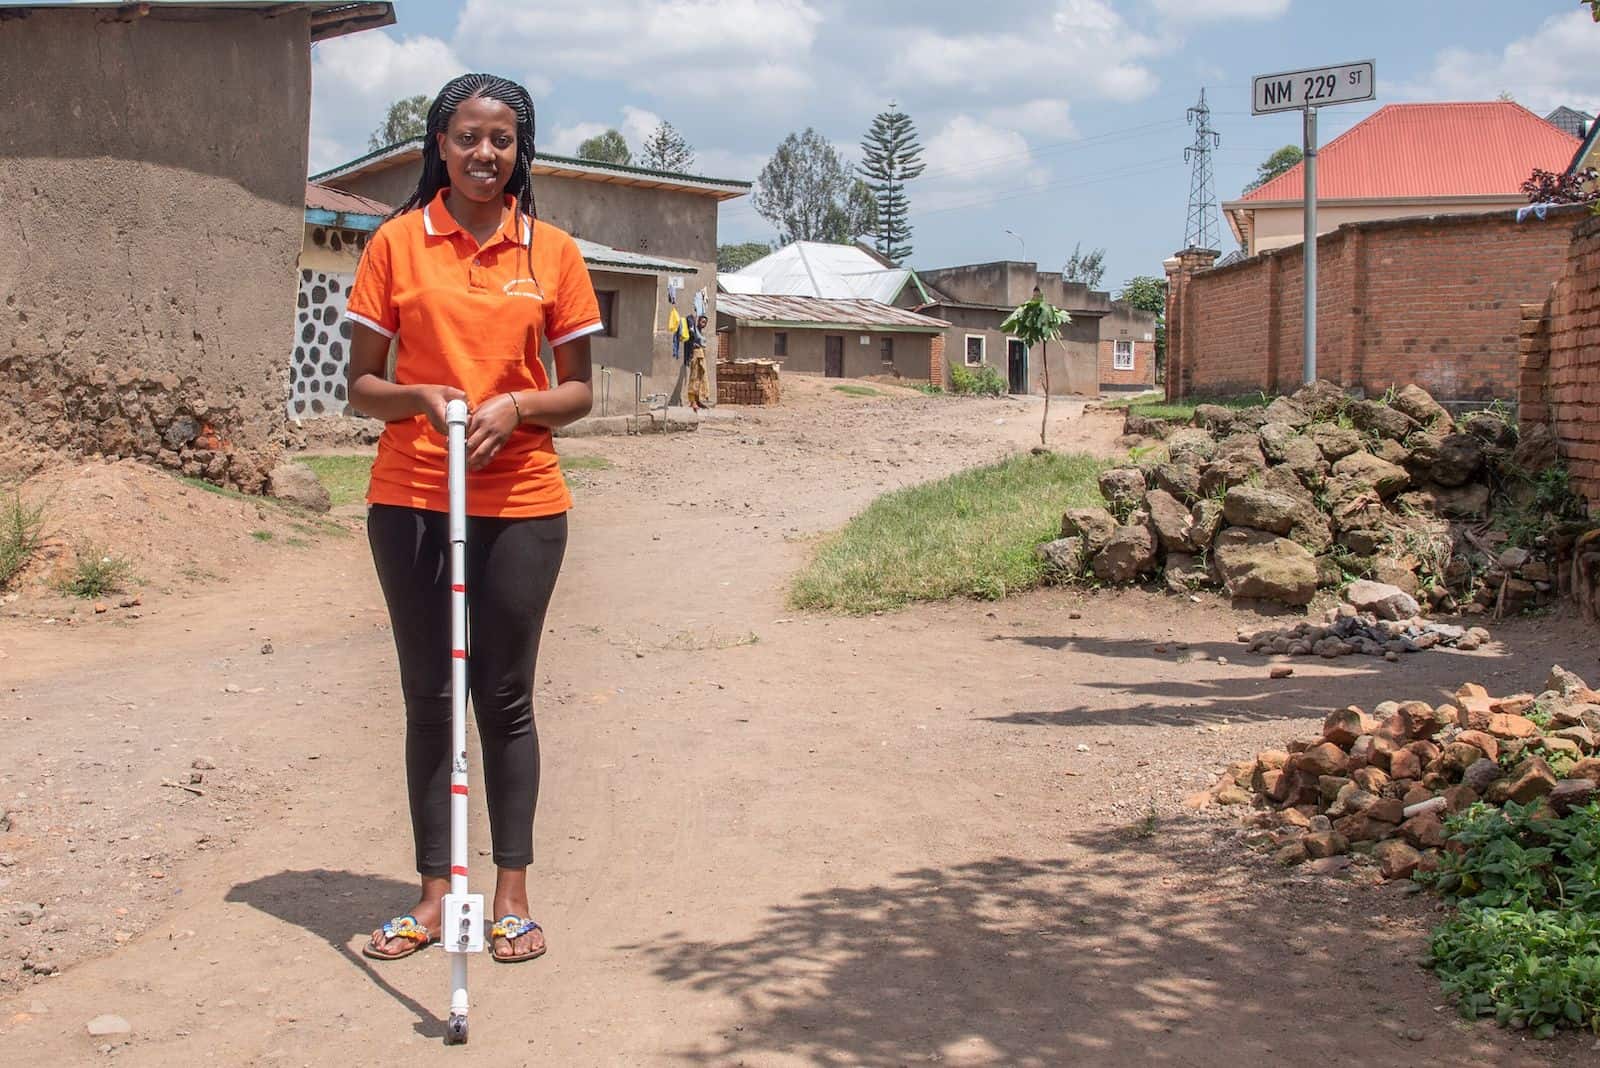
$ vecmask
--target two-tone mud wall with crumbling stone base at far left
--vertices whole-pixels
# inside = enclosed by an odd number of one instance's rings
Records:
[[[35,10],[0,21],[0,433],[258,488],[285,432],[307,14]]]

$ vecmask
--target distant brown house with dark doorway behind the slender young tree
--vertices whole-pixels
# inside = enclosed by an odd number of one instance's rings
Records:
[[[1002,333],[1016,305],[1034,296],[1072,315],[1061,342],[1050,345],[1050,392],[1094,397],[1155,387],[1155,315],[1141,312],[1083,283],[1042,272],[1038,264],[998,261],[918,270],[918,312],[950,323],[946,360],[950,366],[990,366],[1011,393],[1038,393],[1043,374],[1038,350]]]

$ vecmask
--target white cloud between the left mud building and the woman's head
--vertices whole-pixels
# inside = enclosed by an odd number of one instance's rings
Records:
[[[394,38],[384,30],[350,34],[312,50],[310,171],[366,152],[366,137],[389,106],[405,96],[434,96],[467,70],[437,37]]]

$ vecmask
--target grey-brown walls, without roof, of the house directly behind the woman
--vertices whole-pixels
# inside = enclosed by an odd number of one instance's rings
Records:
[[[421,163],[413,161],[376,174],[336,179],[330,185],[400,205],[416,189],[419,171]],[[678,294],[678,307],[693,309],[694,291],[704,288],[707,318],[717,321],[717,200],[560,174],[534,174],[533,195],[539,217],[573,237],[693,267],[694,273],[680,275],[685,288]],[[677,401],[683,376],[682,363],[672,358],[672,334],[667,333],[667,278],[662,273],[650,280],[654,299],[650,302],[648,325],[634,318],[640,301],[634,296],[634,288],[627,288],[626,304],[630,309],[626,310],[626,328],[603,342],[595,339],[594,361],[597,374],[600,366],[619,368],[629,374],[640,371],[645,374],[646,393],[670,393]],[[595,288],[600,288],[598,280]],[[707,361],[707,371],[710,363]],[[710,374],[714,377],[715,371]],[[715,382],[712,387],[715,389]]]

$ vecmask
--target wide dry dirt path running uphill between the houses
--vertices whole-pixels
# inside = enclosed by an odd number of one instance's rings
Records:
[[[1054,443],[1109,448],[1112,420],[1062,408]],[[1592,1057],[1453,1022],[1416,966],[1426,902],[1272,870],[1237,823],[1178,804],[1334,702],[1528,686],[1552,659],[1595,673],[1579,628],[1520,622],[1480,654],[1267,683],[1214,601],[784,606],[813,534],[1026,448],[1035,420],[1014,401],[797,384],[778,412],[570,446],[613,467],[584,473],[541,660],[533,884],[552,950],[474,962],[472,1044],[450,1057]],[[363,539],[278,548],[147,609],[0,620],[0,1062],[437,1063],[445,954],[357,953],[411,884]],[[1154,652],[1163,640],[1190,648]],[[182,788],[197,756],[216,764],[203,795]],[[474,835],[488,844],[482,820]],[[45,911],[18,926],[18,902]],[[61,974],[24,975],[22,951]],[[131,1036],[88,1038],[99,1014]]]

